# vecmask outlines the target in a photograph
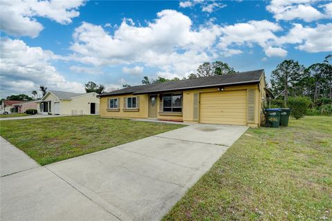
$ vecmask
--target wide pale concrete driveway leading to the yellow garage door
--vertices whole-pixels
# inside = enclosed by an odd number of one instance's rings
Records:
[[[1,220],[160,220],[246,129],[195,124],[3,176]]]

